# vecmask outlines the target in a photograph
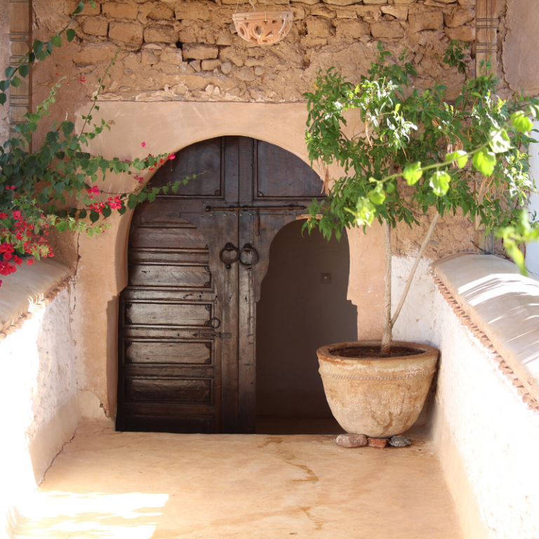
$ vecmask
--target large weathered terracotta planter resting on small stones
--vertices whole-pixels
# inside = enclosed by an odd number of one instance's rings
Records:
[[[392,342],[392,353],[397,355],[391,357],[376,357],[377,350],[380,341],[340,342],[317,350],[335,419],[347,432],[373,438],[402,434],[413,425],[439,354],[436,348],[415,342]]]

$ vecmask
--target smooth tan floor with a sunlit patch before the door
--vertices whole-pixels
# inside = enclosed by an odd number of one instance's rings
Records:
[[[432,442],[79,427],[16,537],[461,539]]]

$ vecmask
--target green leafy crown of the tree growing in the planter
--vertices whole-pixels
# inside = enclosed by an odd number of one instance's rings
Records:
[[[443,61],[465,73],[456,42]],[[527,152],[529,117],[538,117],[539,101],[496,98],[497,80],[489,74],[466,79],[449,100],[436,81],[425,91],[413,88],[415,75],[406,51],[394,61],[380,43],[359,81],[334,68],[319,72],[305,94],[307,147],[312,162],[336,163],[344,175],[310,206],[307,228],[340,237],[346,227],[374,219],[413,226],[430,208],[479,216],[487,234],[517,222],[535,190]]]

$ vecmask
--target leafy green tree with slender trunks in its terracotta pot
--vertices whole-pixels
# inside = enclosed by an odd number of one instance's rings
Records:
[[[365,230],[378,220],[385,231],[382,340],[318,350],[328,403],[347,432],[401,434],[424,404],[438,350],[393,342],[392,328],[439,217],[461,210],[490,234],[518,222],[535,188],[526,151],[533,141],[528,116],[538,116],[538,101],[517,96],[499,100],[495,77],[468,79],[463,58],[463,49],[452,41],[443,61],[465,74],[454,100],[448,99],[446,86],[436,82],[425,91],[412,89],[415,69],[406,62],[406,51],[394,61],[380,43],[368,75],[359,82],[347,81],[331,68],[320,72],[313,91],[305,94],[307,146],[311,161],[318,161],[324,171],[327,193],[324,201],[310,206],[305,227],[319,227],[327,238],[333,233],[340,237],[346,227]],[[362,127],[347,135],[352,110]],[[343,175],[330,181],[332,163]],[[418,226],[421,213],[430,216],[430,227],[392,312],[390,232],[402,221]]]

